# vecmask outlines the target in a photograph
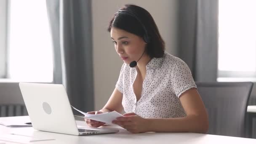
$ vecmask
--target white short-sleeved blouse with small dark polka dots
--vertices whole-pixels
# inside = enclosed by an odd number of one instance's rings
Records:
[[[184,61],[166,52],[161,58],[151,59],[146,66],[139,101],[133,92],[136,75],[136,68],[124,63],[116,84],[117,90],[123,93],[122,105],[126,113],[134,112],[144,118],[186,116],[179,96],[196,85]]]

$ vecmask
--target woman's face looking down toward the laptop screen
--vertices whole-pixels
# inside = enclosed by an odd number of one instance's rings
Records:
[[[139,60],[146,47],[141,37],[115,27],[111,28],[110,35],[117,54],[126,64]],[[147,54],[144,53],[143,56],[145,55]]]

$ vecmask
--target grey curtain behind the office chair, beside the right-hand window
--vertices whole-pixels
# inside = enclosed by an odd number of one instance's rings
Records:
[[[218,0],[179,0],[179,57],[195,81],[217,78]]]

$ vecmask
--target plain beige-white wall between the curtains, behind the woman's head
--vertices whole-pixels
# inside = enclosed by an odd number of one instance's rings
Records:
[[[107,26],[113,14],[127,3],[139,5],[151,13],[165,40],[166,51],[177,55],[178,0],[92,0],[95,110],[106,104],[123,64]]]

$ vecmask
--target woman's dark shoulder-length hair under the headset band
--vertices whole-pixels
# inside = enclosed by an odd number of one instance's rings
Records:
[[[150,58],[160,58],[164,54],[165,42],[163,41],[157,25],[150,13],[137,5],[125,5],[120,10],[127,11],[131,14],[115,13],[109,22],[108,31],[112,27],[123,29],[139,37],[143,37],[147,33],[149,42],[146,46],[146,52]],[[135,16],[133,16],[135,15]],[[145,29],[145,30],[144,30]]]

